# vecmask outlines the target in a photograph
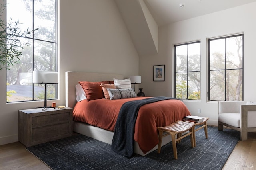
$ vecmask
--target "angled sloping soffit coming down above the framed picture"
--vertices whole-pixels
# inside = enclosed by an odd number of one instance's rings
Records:
[[[139,56],[158,53],[158,25],[143,0],[116,0]],[[145,17],[145,15],[147,15]]]

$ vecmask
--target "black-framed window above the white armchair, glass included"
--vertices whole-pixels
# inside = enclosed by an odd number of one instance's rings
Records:
[[[208,100],[243,100],[243,39],[209,39]]]

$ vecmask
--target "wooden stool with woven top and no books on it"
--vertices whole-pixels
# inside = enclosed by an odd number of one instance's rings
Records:
[[[158,143],[158,150],[157,152],[160,153],[161,151],[161,145],[162,145],[162,137],[165,137],[167,135],[171,135],[172,137],[172,148],[173,148],[173,154],[174,158],[178,159],[177,154],[177,146],[176,142],[180,142],[180,140],[188,135],[190,135],[190,141],[191,141],[191,147],[194,148],[194,129],[195,123],[188,122],[188,121],[175,121],[174,123],[164,126],[164,127],[157,127],[159,131],[159,143]],[[186,133],[182,135],[183,132],[189,131],[189,133]],[[165,135],[163,135],[163,132],[168,132]],[[177,134],[177,139],[175,135]]]

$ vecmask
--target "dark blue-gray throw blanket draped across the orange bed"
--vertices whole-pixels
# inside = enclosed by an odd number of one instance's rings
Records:
[[[154,97],[124,103],[116,121],[111,149],[122,156],[131,157],[134,145],[134,127],[140,106],[168,99],[176,98]]]

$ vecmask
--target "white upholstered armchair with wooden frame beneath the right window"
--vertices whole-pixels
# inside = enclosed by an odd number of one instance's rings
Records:
[[[248,132],[256,132],[256,104],[246,101],[218,102],[218,130],[223,125],[240,131],[240,140],[247,140]]]

